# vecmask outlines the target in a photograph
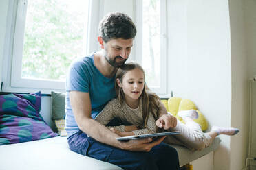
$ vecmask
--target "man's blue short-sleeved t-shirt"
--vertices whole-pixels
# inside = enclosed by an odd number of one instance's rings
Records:
[[[79,130],[70,106],[70,91],[89,93],[92,118],[95,119],[107,102],[116,96],[114,82],[115,76],[105,77],[94,66],[94,53],[91,56],[78,58],[72,62],[66,80],[65,130],[67,136],[71,136]]]

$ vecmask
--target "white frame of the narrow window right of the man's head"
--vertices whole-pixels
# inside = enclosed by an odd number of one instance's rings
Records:
[[[167,0],[160,1],[160,86],[149,86],[158,95],[167,94]],[[135,60],[142,64],[142,0],[136,1]]]

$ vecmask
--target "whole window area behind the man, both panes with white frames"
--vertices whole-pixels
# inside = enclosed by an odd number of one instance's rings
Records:
[[[95,27],[98,28],[105,9],[112,11],[110,4],[114,1],[109,4],[100,0],[18,0],[10,3],[13,3],[10,18],[14,22],[6,29],[10,30],[6,56],[12,58],[3,66],[8,73],[3,90],[40,89],[48,93],[65,90],[70,62],[98,49]],[[166,94],[166,0],[132,1],[134,3],[130,6],[133,9],[128,11],[134,12],[138,34],[131,58],[145,68],[149,88],[159,95]]]

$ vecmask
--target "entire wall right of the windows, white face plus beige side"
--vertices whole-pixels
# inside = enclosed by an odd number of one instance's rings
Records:
[[[256,2],[167,2],[168,90],[192,99],[210,127],[241,130],[220,136],[213,169],[242,169],[248,143],[247,81],[256,74]]]

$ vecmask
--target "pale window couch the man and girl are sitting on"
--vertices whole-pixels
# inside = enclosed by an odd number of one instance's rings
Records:
[[[43,96],[41,99],[40,114],[47,125],[54,129],[54,123],[52,121],[52,98],[49,95]],[[178,151],[180,165],[186,165],[206,154],[212,153],[219,145],[220,138],[217,137],[208,148],[202,149],[201,151],[191,151],[178,145],[172,146]],[[114,170],[121,168],[107,162],[76,154],[70,151],[66,136],[53,136],[34,141],[0,145],[0,169]]]

